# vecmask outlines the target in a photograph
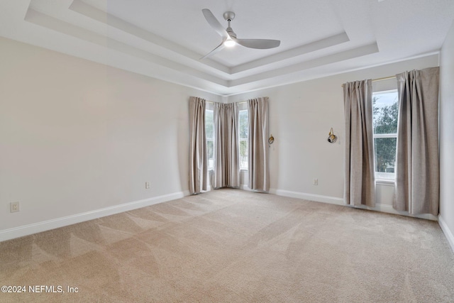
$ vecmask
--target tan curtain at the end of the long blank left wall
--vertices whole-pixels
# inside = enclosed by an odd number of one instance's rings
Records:
[[[205,99],[189,98],[189,192],[206,190]]]

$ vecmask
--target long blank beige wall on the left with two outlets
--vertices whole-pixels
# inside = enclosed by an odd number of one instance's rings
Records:
[[[0,49],[0,231],[187,191],[189,96],[221,97],[6,38]]]

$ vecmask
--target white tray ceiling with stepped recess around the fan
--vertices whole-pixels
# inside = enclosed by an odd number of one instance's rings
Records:
[[[238,38],[221,43],[218,21],[234,11]],[[1,0],[0,35],[215,94],[238,94],[438,52],[453,0]]]

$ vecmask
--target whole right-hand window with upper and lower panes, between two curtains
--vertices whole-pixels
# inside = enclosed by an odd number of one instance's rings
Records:
[[[394,180],[396,167],[397,116],[399,98],[397,89],[372,94],[375,145],[375,178]]]

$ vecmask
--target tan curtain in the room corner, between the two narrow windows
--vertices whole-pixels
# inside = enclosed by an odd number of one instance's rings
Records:
[[[237,104],[214,104],[214,133],[214,187],[239,187]]]

